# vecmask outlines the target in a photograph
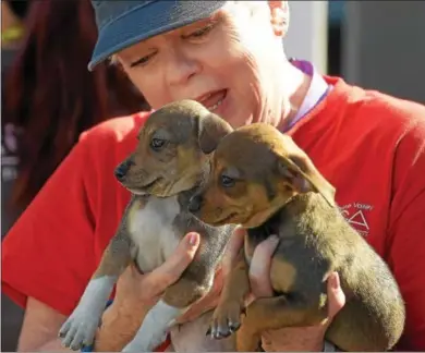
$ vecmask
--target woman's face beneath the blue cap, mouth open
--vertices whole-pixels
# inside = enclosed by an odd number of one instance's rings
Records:
[[[281,113],[279,21],[264,1],[230,2],[211,17],[126,48],[124,71],[154,109],[194,99],[234,127]]]

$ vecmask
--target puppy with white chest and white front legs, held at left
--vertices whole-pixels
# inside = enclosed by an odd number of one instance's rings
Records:
[[[153,351],[173,320],[210,290],[234,227],[207,226],[187,211],[187,204],[208,172],[208,154],[231,130],[192,100],[167,105],[149,117],[135,151],[116,169],[132,198],[78,305],[60,330],[66,348],[78,350],[92,343],[106,302],[131,261],[142,272],[151,271],[189,232],[198,232],[202,239],[195,259],[148,312],[123,351]]]

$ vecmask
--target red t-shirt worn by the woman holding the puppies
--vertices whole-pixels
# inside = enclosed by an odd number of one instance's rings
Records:
[[[349,222],[389,264],[406,302],[400,350],[425,350],[425,107],[325,77],[333,89],[288,133],[336,186]],[[69,315],[130,195],[113,169],[146,114],[113,119],[80,143],[3,241],[2,288]]]

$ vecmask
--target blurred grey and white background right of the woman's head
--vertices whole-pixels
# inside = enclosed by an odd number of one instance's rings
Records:
[[[351,84],[425,102],[424,1],[289,1],[288,54]]]

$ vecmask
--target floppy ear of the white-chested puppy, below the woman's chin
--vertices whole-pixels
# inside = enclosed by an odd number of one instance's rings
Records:
[[[220,117],[209,113],[199,119],[198,141],[204,154],[214,151],[222,137],[233,131],[230,124]]]

